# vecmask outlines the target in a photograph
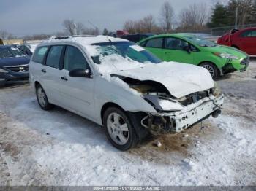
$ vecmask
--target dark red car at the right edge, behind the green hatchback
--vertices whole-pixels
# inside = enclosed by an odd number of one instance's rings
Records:
[[[233,29],[218,39],[218,44],[236,47],[248,55],[256,56],[256,27]]]

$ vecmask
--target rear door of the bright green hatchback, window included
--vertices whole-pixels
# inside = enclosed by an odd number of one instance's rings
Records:
[[[161,37],[157,37],[154,39],[149,39],[146,42],[143,42],[140,44],[140,46],[144,47],[146,50],[152,52],[154,55],[156,55],[158,58],[163,60],[163,43],[164,39]]]

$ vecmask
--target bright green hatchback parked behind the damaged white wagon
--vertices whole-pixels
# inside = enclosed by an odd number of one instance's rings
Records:
[[[213,78],[233,71],[246,71],[249,55],[192,34],[162,34],[138,42],[162,61],[192,63],[208,69]]]

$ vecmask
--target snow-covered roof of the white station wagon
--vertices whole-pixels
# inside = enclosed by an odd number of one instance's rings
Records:
[[[111,36],[64,36],[61,38],[51,37],[48,40],[42,42],[42,44],[48,43],[62,43],[62,42],[76,42],[83,46],[94,44],[94,43],[101,43],[101,42],[124,42],[127,41],[126,39],[119,39],[114,38]]]

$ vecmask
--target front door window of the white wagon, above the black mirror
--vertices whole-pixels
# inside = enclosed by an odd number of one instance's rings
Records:
[[[72,71],[74,69],[89,69],[89,64],[83,53],[77,47],[67,46],[64,56],[64,69]]]

